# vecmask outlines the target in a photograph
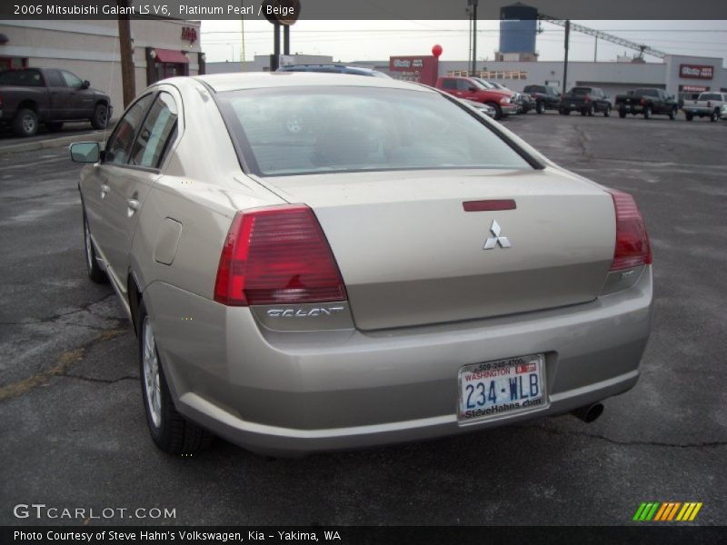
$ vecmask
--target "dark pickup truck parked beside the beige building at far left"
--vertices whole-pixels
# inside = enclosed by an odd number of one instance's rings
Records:
[[[89,120],[104,129],[112,114],[108,94],[67,70],[21,68],[0,72],[0,124],[33,136],[39,124],[59,131],[65,121]]]

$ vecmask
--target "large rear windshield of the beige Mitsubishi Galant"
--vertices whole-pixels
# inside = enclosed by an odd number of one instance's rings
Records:
[[[262,175],[533,168],[477,114],[440,94],[327,86],[218,97],[244,162]]]

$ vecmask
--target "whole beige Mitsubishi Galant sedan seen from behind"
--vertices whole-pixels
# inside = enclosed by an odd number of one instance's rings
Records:
[[[589,421],[638,379],[652,254],[632,197],[432,88],[172,78],[103,151],[71,151],[92,163],[88,273],[134,323],[164,451]]]

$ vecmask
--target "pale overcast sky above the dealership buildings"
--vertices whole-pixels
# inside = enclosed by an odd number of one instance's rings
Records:
[[[573,21],[670,54],[727,57],[727,21]],[[536,48],[543,61],[563,59],[563,27],[543,23]],[[243,33],[244,30],[244,33]],[[243,37],[244,35],[244,46]],[[477,58],[492,60],[498,48],[499,21],[479,21]],[[569,58],[593,61],[593,36],[571,33]],[[327,54],[335,61],[388,61],[390,55],[431,54],[441,60],[469,58],[469,22],[463,21],[298,21],[291,28],[291,53]],[[267,21],[203,21],[202,48],[207,62],[252,60],[273,53],[273,25]],[[635,52],[598,40],[598,60],[612,61]],[[647,61],[659,59],[646,56]]]

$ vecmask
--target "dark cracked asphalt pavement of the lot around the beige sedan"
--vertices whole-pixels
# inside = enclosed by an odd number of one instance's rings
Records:
[[[652,237],[655,312],[642,377],[571,416],[366,451],[271,460],[224,441],[156,451],[136,341],[87,280],[80,167],[65,148],[0,154],[0,524],[16,503],[169,508],[120,524],[629,524],[645,500],[702,501],[727,523],[727,123],[528,114],[505,126],[632,193]],[[91,524],[105,520],[92,520]]]

